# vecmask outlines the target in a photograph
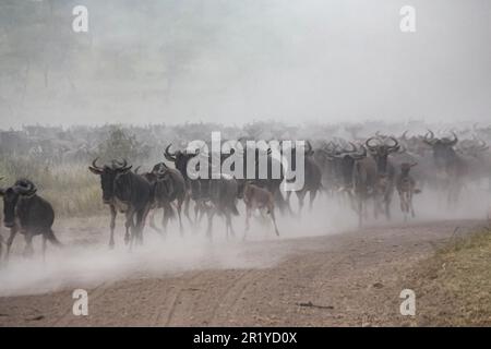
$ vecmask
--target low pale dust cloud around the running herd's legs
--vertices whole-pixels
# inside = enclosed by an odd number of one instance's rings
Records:
[[[55,229],[64,246],[57,249],[49,245],[45,262],[40,253],[40,240],[35,239],[35,255],[25,258],[22,256],[24,241],[17,237],[9,265],[3,264],[0,268],[0,296],[95,288],[104,282],[204,269],[267,268],[303,249],[301,241],[304,239],[358,229],[357,216],[347,205],[348,202],[342,203],[339,197],[323,194],[316,198],[312,210],[307,204],[300,216],[277,213],[280,237],[275,236],[268,217],[256,213],[243,240],[244,212],[240,204],[240,216],[233,218],[235,237],[226,239],[225,224],[219,216],[214,219],[213,241],[206,238],[206,217],[197,226],[184,219],[183,237],[180,236],[177,221],[170,224],[166,238],[146,227],[144,244],[131,251],[123,243],[122,219],[117,224],[115,250],[107,246],[109,216],[61,221]],[[295,194],[291,207],[297,213]],[[445,208],[444,196],[431,190],[415,197],[415,207],[417,217],[405,221],[395,195],[392,219],[387,221],[382,217],[375,220],[369,207],[366,227],[483,219],[491,206],[486,191],[476,186],[463,195],[458,207]],[[283,243],[291,240],[298,241],[294,248],[290,243]]]

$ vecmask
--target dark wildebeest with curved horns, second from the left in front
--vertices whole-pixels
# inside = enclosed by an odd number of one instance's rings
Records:
[[[152,185],[140,174],[131,171],[132,166],[112,161],[111,166],[97,166],[97,159],[88,167],[91,172],[100,176],[103,201],[111,212],[109,246],[115,245],[115,226],[117,210],[125,214],[124,242],[143,243],[143,227],[152,205]]]

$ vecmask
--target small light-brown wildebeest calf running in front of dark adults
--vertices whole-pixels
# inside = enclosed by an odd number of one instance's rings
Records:
[[[273,221],[275,232],[279,236],[278,227],[276,226],[275,201],[273,194],[266,189],[254,185],[250,181],[246,181],[241,188],[241,196],[246,203],[246,232],[243,239],[246,239],[246,233],[249,231],[249,220],[255,209],[266,209],[266,213]]]

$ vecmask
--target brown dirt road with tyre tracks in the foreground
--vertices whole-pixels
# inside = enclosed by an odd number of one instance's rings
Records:
[[[434,246],[481,225],[446,220],[242,243],[242,256],[282,255],[266,267],[146,273],[88,289],[88,316],[72,290],[0,298],[0,325],[376,326],[414,325],[399,314],[406,276]],[[418,294],[417,294],[418,296]]]

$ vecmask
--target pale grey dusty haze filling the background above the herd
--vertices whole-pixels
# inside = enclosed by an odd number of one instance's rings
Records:
[[[491,116],[489,0],[23,2],[0,4],[1,128]]]

